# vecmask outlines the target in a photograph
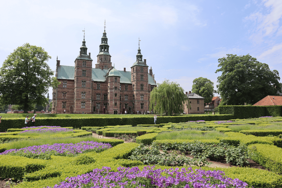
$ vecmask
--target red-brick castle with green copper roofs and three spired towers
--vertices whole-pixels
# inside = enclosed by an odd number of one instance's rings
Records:
[[[83,38],[74,66],[60,65],[57,57],[56,77],[61,83],[53,88],[52,113],[120,114],[126,110],[136,114],[149,110],[150,92],[157,85],[140,46],[131,71],[120,71],[112,66],[106,30],[95,68],[85,43]]]

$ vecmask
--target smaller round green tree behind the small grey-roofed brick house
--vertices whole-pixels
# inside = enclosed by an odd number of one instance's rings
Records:
[[[213,89],[212,81],[199,77],[193,80],[192,92],[205,97],[204,103],[210,103],[216,90]]]

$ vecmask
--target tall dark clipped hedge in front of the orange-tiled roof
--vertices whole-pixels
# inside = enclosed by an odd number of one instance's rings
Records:
[[[282,116],[282,106],[219,106],[219,114],[232,114],[235,119]]]

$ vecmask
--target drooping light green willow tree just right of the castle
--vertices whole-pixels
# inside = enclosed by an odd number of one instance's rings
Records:
[[[184,111],[184,105],[188,105],[188,98],[176,82],[164,80],[150,93],[149,109],[161,116],[179,115]]]

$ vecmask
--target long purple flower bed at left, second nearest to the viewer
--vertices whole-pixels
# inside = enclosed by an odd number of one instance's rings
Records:
[[[50,159],[46,156],[57,155],[57,156],[74,156],[79,153],[89,152],[89,151],[103,151],[105,149],[111,148],[109,143],[98,143],[94,141],[81,141],[80,143],[55,143],[53,145],[45,144],[40,146],[29,146],[21,149],[9,149],[0,155],[17,155],[25,156],[29,158],[40,158],[40,159]]]

